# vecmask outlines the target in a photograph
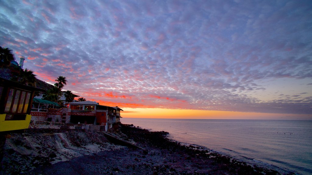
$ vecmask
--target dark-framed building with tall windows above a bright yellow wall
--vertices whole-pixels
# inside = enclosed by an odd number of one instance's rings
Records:
[[[44,90],[0,78],[0,131],[29,127],[35,91]]]

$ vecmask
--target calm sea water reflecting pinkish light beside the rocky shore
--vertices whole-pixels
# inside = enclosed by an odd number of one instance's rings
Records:
[[[312,174],[312,121],[122,118],[171,139],[197,144],[282,172]]]

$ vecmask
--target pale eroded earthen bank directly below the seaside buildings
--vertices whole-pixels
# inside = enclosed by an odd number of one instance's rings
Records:
[[[100,151],[124,148],[111,143],[101,132],[28,130],[5,135],[0,174],[23,174]]]

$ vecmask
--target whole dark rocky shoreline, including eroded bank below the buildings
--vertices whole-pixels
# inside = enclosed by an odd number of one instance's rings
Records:
[[[119,124],[109,134],[119,141],[78,130],[12,133],[6,136],[0,174],[282,174],[180,144],[165,131]]]

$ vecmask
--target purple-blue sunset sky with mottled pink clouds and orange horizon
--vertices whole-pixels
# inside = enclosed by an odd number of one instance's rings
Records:
[[[310,0],[0,0],[0,45],[123,117],[312,120]]]

